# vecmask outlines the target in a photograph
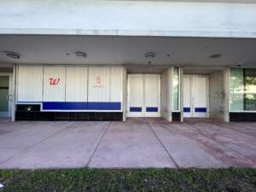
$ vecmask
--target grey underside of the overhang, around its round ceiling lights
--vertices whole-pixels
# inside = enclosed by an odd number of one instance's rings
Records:
[[[219,68],[237,65],[256,67],[255,49],[255,38],[0,35],[0,62],[4,65],[23,63],[122,65],[129,68]],[[5,51],[20,54],[20,59],[10,58]],[[84,51],[87,57],[76,56],[76,51]],[[155,57],[146,58],[145,54],[148,52],[154,52]],[[212,55],[218,57],[211,58]]]

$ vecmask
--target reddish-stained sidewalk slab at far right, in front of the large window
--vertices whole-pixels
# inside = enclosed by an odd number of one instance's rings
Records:
[[[198,132],[199,137],[195,140],[226,165],[256,167],[256,137],[237,124],[190,122],[187,127]]]

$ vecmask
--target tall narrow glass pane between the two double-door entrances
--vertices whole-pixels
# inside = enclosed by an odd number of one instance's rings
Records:
[[[173,99],[173,111],[179,110],[179,70],[178,67],[173,67],[172,78],[172,99]]]

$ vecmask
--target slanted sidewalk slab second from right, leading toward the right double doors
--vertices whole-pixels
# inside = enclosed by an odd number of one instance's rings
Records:
[[[218,168],[227,166],[205,150],[203,143],[193,139],[195,137],[193,131],[183,130],[183,125],[166,122],[150,123],[150,125],[178,167]]]

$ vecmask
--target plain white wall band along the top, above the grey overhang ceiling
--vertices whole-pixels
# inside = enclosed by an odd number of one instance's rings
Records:
[[[9,0],[0,34],[256,38],[256,3]]]

